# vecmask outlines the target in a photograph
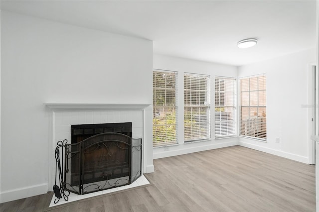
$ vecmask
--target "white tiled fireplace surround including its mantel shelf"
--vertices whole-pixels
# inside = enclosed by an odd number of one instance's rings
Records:
[[[59,140],[71,140],[72,124],[132,122],[132,137],[142,138],[142,172],[145,170],[145,109],[148,104],[44,104],[50,110],[49,191],[55,183],[54,152]],[[143,173],[142,173],[143,174]]]

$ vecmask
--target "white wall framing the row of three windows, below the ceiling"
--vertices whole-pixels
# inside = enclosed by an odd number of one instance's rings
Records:
[[[168,157],[173,155],[186,154],[191,152],[221,148],[238,144],[237,137],[218,139],[214,137],[214,80],[215,76],[225,76],[237,78],[237,68],[235,66],[207,63],[195,60],[188,60],[163,55],[154,55],[154,69],[178,72],[178,145],[156,147],[153,150],[154,159]],[[184,143],[183,130],[183,75],[184,73],[205,74],[210,75],[211,85],[211,139],[208,141]]]

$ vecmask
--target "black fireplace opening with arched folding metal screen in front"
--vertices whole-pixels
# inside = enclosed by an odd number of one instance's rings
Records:
[[[141,176],[142,138],[132,138],[132,123],[72,125],[64,167],[65,190],[76,194],[131,184]]]

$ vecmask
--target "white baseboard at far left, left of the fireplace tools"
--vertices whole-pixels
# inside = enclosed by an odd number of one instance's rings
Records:
[[[8,191],[3,191],[0,194],[0,203],[5,203],[22,198],[32,197],[40,194],[45,194],[48,191],[48,184],[38,184]]]

